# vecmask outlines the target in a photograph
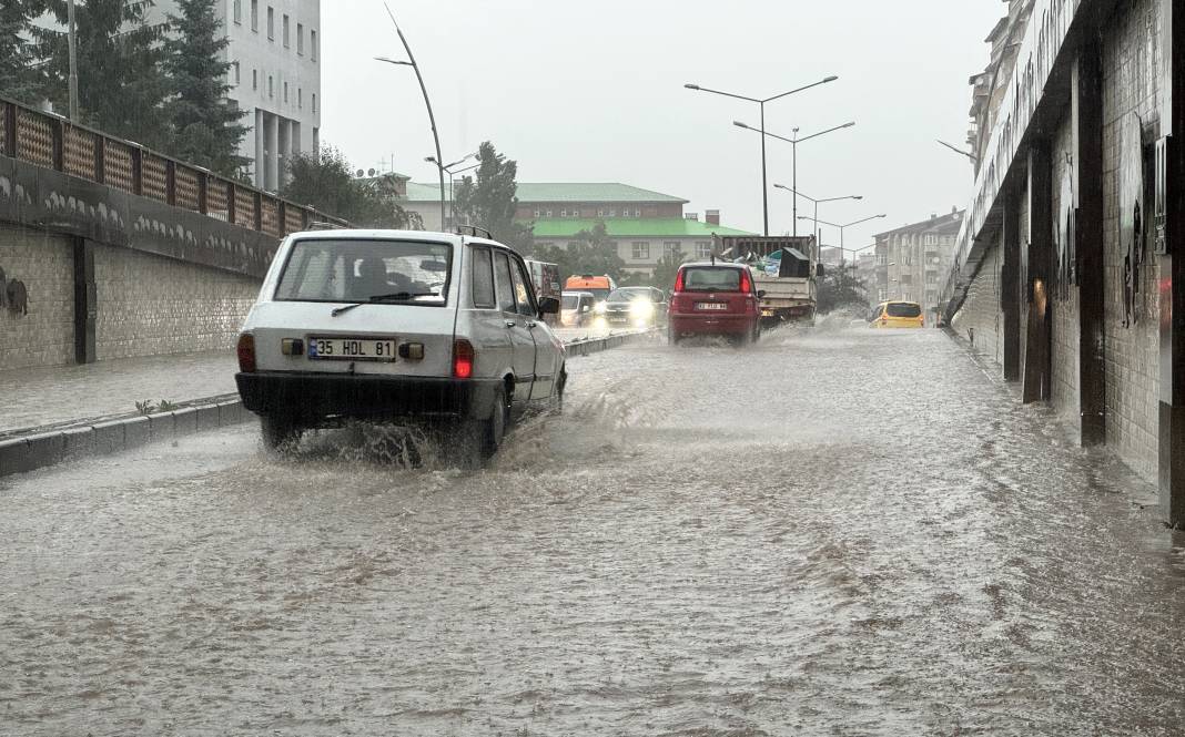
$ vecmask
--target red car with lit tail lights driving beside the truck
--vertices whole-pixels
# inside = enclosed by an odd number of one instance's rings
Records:
[[[667,336],[724,335],[742,343],[761,335],[761,297],[744,264],[685,264],[671,293]]]

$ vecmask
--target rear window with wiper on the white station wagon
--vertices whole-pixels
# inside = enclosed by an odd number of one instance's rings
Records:
[[[447,302],[453,246],[415,240],[301,240],[288,252],[278,302]]]

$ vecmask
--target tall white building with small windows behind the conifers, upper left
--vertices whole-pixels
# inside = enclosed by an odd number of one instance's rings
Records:
[[[321,0],[217,0],[230,38],[229,97],[250,131],[239,154],[256,187],[275,192],[293,154],[316,150],[321,131]],[[156,0],[154,21],[177,15]]]

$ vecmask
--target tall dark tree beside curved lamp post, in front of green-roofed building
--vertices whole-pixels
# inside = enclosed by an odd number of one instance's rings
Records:
[[[506,159],[486,141],[478,150],[476,177],[466,176],[456,187],[454,201],[459,219],[483,227],[501,243],[531,253],[532,226],[514,221],[518,211],[518,162]]]

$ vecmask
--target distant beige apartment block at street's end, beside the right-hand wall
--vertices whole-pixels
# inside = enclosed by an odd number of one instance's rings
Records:
[[[929,324],[937,325],[942,286],[950,272],[965,212],[931,214],[920,222],[877,233],[869,305],[903,299],[922,305]]]

